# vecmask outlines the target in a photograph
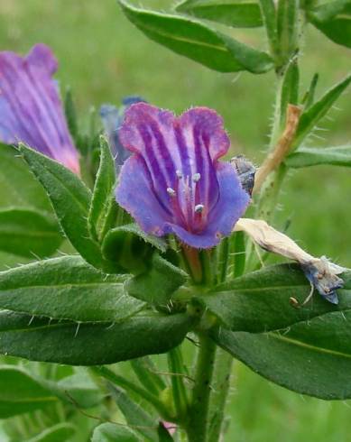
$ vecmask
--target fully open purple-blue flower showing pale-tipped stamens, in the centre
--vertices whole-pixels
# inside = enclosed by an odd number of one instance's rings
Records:
[[[231,233],[250,197],[236,170],[218,161],[230,143],[215,111],[196,107],[176,117],[139,103],[125,112],[119,138],[134,155],[116,199],[146,233],[175,234],[195,248]]]

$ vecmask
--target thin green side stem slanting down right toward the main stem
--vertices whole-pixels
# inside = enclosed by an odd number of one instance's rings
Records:
[[[125,388],[125,390],[127,391],[133,391],[135,394],[142,397],[145,401],[151,403],[155,410],[157,410],[161,414],[163,419],[172,421],[174,420],[174,416],[170,416],[168,408],[162,403],[162,401],[159,400],[157,396],[152,394],[150,391],[139,387],[134,382],[128,381],[124,377],[116,374],[105,366],[90,367],[90,370],[93,373],[103,376],[107,381],[115,383],[115,385],[118,385],[119,387]]]

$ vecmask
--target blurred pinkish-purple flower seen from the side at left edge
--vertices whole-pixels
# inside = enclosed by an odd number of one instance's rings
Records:
[[[52,79],[56,70],[57,61],[44,44],[23,58],[0,52],[0,141],[26,143],[79,174],[79,154]]]

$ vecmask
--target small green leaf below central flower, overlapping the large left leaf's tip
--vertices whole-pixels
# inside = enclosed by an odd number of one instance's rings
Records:
[[[150,270],[126,281],[125,290],[134,298],[165,308],[188,275],[158,253],[153,253],[150,265]]]

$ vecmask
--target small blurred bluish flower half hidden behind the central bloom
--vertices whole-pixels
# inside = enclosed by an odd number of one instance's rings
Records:
[[[125,111],[135,103],[146,103],[146,101],[142,97],[125,97],[122,103],[123,106],[121,107],[115,107],[113,105],[103,105],[100,107],[100,116],[117,167],[122,166],[125,160],[132,154],[132,152],[124,148],[118,136],[118,131],[125,117]]]

